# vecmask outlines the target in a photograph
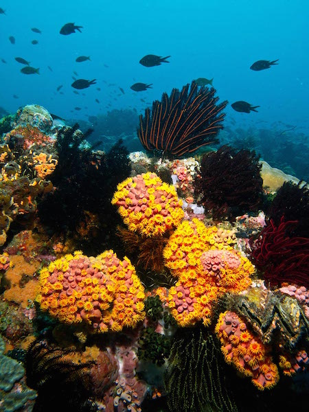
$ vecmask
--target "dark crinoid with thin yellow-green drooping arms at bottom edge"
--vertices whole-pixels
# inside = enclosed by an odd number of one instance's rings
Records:
[[[176,332],[164,380],[171,412],[238,411],[220,343],[204,327]]]

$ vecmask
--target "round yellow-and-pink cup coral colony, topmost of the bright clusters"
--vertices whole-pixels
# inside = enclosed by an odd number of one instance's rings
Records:
[[[117,186],[112,200],[131,231],[162,235],[177,227],[183,218],[182,201],[173,185],[162,183],[155,173],[137,174]]]

